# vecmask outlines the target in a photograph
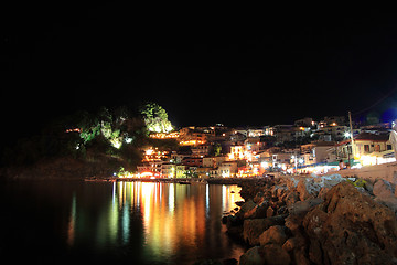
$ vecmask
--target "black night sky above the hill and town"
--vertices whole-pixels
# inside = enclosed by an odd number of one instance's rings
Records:
[[[144,100],[178,126],[291,124],[348,110],[394,118],[391,11],[2,9],[3,123],[35,128],[77,109]]]

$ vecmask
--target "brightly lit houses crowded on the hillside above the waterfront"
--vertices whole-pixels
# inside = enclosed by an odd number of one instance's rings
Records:
[[[250,177],[268,172],[321,173],[395,161],[391,125],[350,126],[345,117],[293,125],[184,127],[153,138],[173,138],[176,150],[148,148],[138,176],[154,178]],[[352,137],[353,135],[353,137]],[[353,140],[352,140],[353,138]]]

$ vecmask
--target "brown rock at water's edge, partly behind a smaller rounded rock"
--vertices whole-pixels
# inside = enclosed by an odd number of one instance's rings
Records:
[[[258,245],[259,236],[265,230],[272,225],[283,224],[282,215],[266,218],[266,219],[246,219],[243,224],[243,239],[249,245]]]

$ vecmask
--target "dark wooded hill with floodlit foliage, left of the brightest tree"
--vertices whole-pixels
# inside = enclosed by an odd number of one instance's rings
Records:
[[[81,131],[67,131],[71,129]],[[4,166],[28,166],[45,158],[85,159],[94,153],[116,157],[133,168],[141,159],[138,148],[147,139],[147,128],[139,116],[129,116],[125,107],[101,107],[96,114],[77,112],[57,118],[37,135],[1,150],[1,159]]]

